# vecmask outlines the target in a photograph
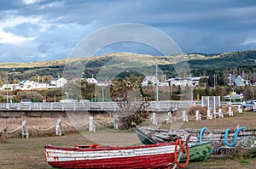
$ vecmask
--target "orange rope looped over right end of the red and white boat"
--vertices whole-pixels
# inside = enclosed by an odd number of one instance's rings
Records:
[[[186,141],[185,145],[186,145],[186,149],[187,149],[187,160],[183,165],[181,165],[181,164],[178,163],[178,158],[177,158],[177,144],[183,150],[183,153],[186,153],[186,150],[184,149],[184,146],[183,146],[183,140],[182,139],[177,139],[176,142],[175,142],[174,159],[175,159],[175,162],[176,162],[178,167],[184,168],[184,167],[188,166],[188,164],[189,164],[189,145],[188,145],[188,142]]]

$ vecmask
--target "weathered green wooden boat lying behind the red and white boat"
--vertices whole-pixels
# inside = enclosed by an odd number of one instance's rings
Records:
[[[175,142],[177,139],[181,138],[177,135],[169,135],[168,138],[166,136],[160,137],[160,133],[158,135],[148,135],[141,130],[139,130],[135,123],[132,123],[132,127],[134,131],[137,133],[137,137],[143,144],[157,144],[157,143],[168,143]],[[212,142],[201,142],[201,143],[189,143],[189,161],[207,161],[212,152]],[[181,156],[180,161],[185,162],[187,159],[187,155],[183,154]]]

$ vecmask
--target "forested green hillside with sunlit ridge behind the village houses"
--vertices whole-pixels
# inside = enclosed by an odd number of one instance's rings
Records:
[[[5,76],[6,70],[15,68],[11,72],[10,80],[15,78],[30,79],[32,76],[53,76],[62,75],[65,65],[86,65],[84,76],[96,75],[102,66],[108,65],[108,70],[121,70],[132,68],[143,74],[144,71],[152,70],[154,65],[159,65],[160,69],[168,77],[175,76],[173,64],[188,60],[193,76],[206,74],[207,76],[216,73],[223,75],[224,71],[234,69],[253,71],[256,68],[256,51],[239,51],[224,54],[183,54],[172,56],[153,56],[149,54],[115,53],[104,54],[94,58],[71,58],[57,59],[51,61],[40,61],[32,63],[0,63],[0,74]],[[78,64],[79,63],[79,64]],[[204,73],[202,73],[204,72]],[[2,77],[3,79],[3,77]]]

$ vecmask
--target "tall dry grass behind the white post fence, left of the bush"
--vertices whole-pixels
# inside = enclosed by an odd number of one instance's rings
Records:
[[[89,114],[69,114],[68,118],[61,119],[61,132],[62,134],[85,132],[89,130]],[[113,118],[109,115],[94,115],[96,128],[101,129],[104,127],[113,127]],[[55,135],[55,126],[58,118],[49,117],[21,117],[21,118],[8,118],[0,119],[0,131],[10,132],[22,125],[22,121],[26,121],[26,125],[29,137],[38,138],[44,136]],[[49,129],[52,127],[51,129]],[[49,130],[46,130],[49,129]],[[44,131],[46,130],[46,131]],[[0,141],[3,138],[21,138],[22,129],[11,133],[2,133],[0,135]],[[5,139],[4,139],[5,140]]]

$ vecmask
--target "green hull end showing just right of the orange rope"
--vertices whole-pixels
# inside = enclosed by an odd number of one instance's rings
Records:
[[[212,152],[212,142],[189,144],[189,161],[207,161]],[[181,162],[187,160],[187,154],[180,158]]]

